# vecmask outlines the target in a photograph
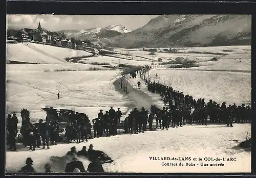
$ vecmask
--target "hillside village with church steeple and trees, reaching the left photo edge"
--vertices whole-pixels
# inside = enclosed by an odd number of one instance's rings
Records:
[[[64,33],[58,34],[57,32],[50,32],[47,29],[42,28],[40,22],[38,23],[37,29],[24,28],[16,31],[7,30],[7,39],[43,43],[78,50],[92,50],[93,48],[113,50],[111,47],[100,45],[99,43],[94,43],[90,40],[69,39]]]

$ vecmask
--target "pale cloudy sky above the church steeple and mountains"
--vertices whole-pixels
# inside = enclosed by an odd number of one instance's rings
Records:
[[[86,30],[105,28],[110,25],[122,25],[126,29],[136,30],[143,27],[152,18],[159,15],[7,15],[7,27],[36,29],[41,27],[49,31]]]

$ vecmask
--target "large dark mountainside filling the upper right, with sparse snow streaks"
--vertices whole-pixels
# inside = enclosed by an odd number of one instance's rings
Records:
[[[127,34],[109,38],[115,47],[251,45],[250,15],[161,15]]]

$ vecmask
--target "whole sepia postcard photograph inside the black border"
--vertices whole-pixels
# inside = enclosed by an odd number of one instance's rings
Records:
[[[6,16],[6,173],[251,172],[251,15]]]

